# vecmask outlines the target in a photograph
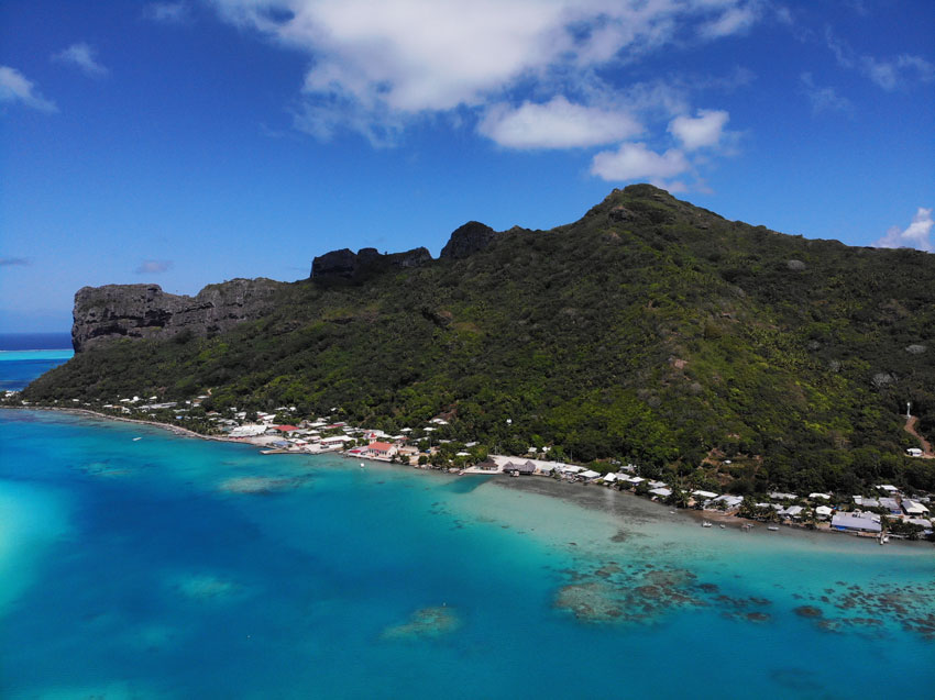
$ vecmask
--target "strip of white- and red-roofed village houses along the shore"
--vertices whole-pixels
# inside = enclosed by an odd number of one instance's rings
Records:
[[[8,400],[15,398],[15,392],[6,395]],[[201,402],[208,398],[202,395],[184,402],[160,402],[157,397],[142,399],[134,396],[118,398],[101,405],[73,400],[73,404],[79,405],[68,408],[168,427],[179,427],[195,420],[193,412],[199,412],[204,416],[200,420],[211,424],[215,427],[211,432],[216,434],[186,432],[211,440],[255,445],[265,455],[333,453],[353,459],[439,469],[459,476],[537,476],[566,484],[629,491],[672,508],[702,511],[706,518],[702,521],[705,527],[713,526],[711,520],[715,520],[719,527],[725,527],[725,523],[740,522],[741,529],[749,530],[755,526],[754,522],[759,521],[768,530],[778,530],[783,525],[849,533],[876,537],[880,544],[890,537],[935,540],[935,519],[928,508],[935,497],[930,493],[906,495],[889,484],[877,485],[871,493],[866,495],[770,491],[766,498],[757,500],[654,480],[641,476],[640,467],[635,464],[612,462],[598,471],[587,466],[549,459],[548,446],[530,446],[528,454],[521,457],[491,454],[476,442],[461,443],[442,437],[449,423],[440,416],[426,421],[424,425],[402,427],[397,434],[391,435],[382,430],[334,420],[339,411],[337,408],[327,416],[297,420],[293,424],[283,419],[294,415],[296,407],[278,407],[274,412],[249,412],[231,408],[229,415],[222,415],[218,411],[205,412],[200,409]],[[29,405],[28,401],[19,403]],[[917,451],[906,452],[911,457],[919,456],[915,454]],[[735,518],[738,520],[732,521]]]

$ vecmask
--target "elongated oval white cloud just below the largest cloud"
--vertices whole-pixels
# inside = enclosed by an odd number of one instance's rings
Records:
[[[495,104],[477,130],[508,148],[574,148],[622,141],[642,131],[629,113],[584,107],[557,96],[544,104]]]

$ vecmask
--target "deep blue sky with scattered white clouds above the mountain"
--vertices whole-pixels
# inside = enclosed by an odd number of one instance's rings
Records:
[[[632,182],[935,252],[935,2],[0,2],[0,332]]]

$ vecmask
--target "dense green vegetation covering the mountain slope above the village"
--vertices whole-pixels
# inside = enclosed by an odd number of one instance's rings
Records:
[[[650,186],[579,222],[356,280],[286,286],[211,338],[124,341],[34,381],[34,401],[191,398],[340,407],[391,431],[443,415],[492,449],[767,487],[935,490],[935,256],[729,222]],[[512,422],[508,422],[512,421]]]

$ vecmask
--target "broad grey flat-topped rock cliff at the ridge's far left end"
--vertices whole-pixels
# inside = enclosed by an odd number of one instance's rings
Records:
[[[195,297],[168,295],[158,285],[84,287],[75,295],[72,344],[80,353],[123,337],[223,333],[268,313],[283,287],[265,278],[232,279]]]

